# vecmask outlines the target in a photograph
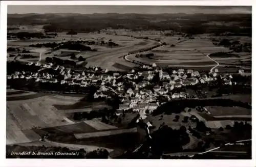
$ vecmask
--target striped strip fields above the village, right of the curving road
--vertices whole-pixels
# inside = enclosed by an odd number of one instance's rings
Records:
[[[166,45],[153,49],[154,56],[151,59],[135,58],[135,55],[132,55],[130,59],[169,67],[208,67],[210,69],[216,63],[206,55],[219,51],[228,51],[228,49],[215,46],[208,39],[185,39],[177,42],[174,47]]]

